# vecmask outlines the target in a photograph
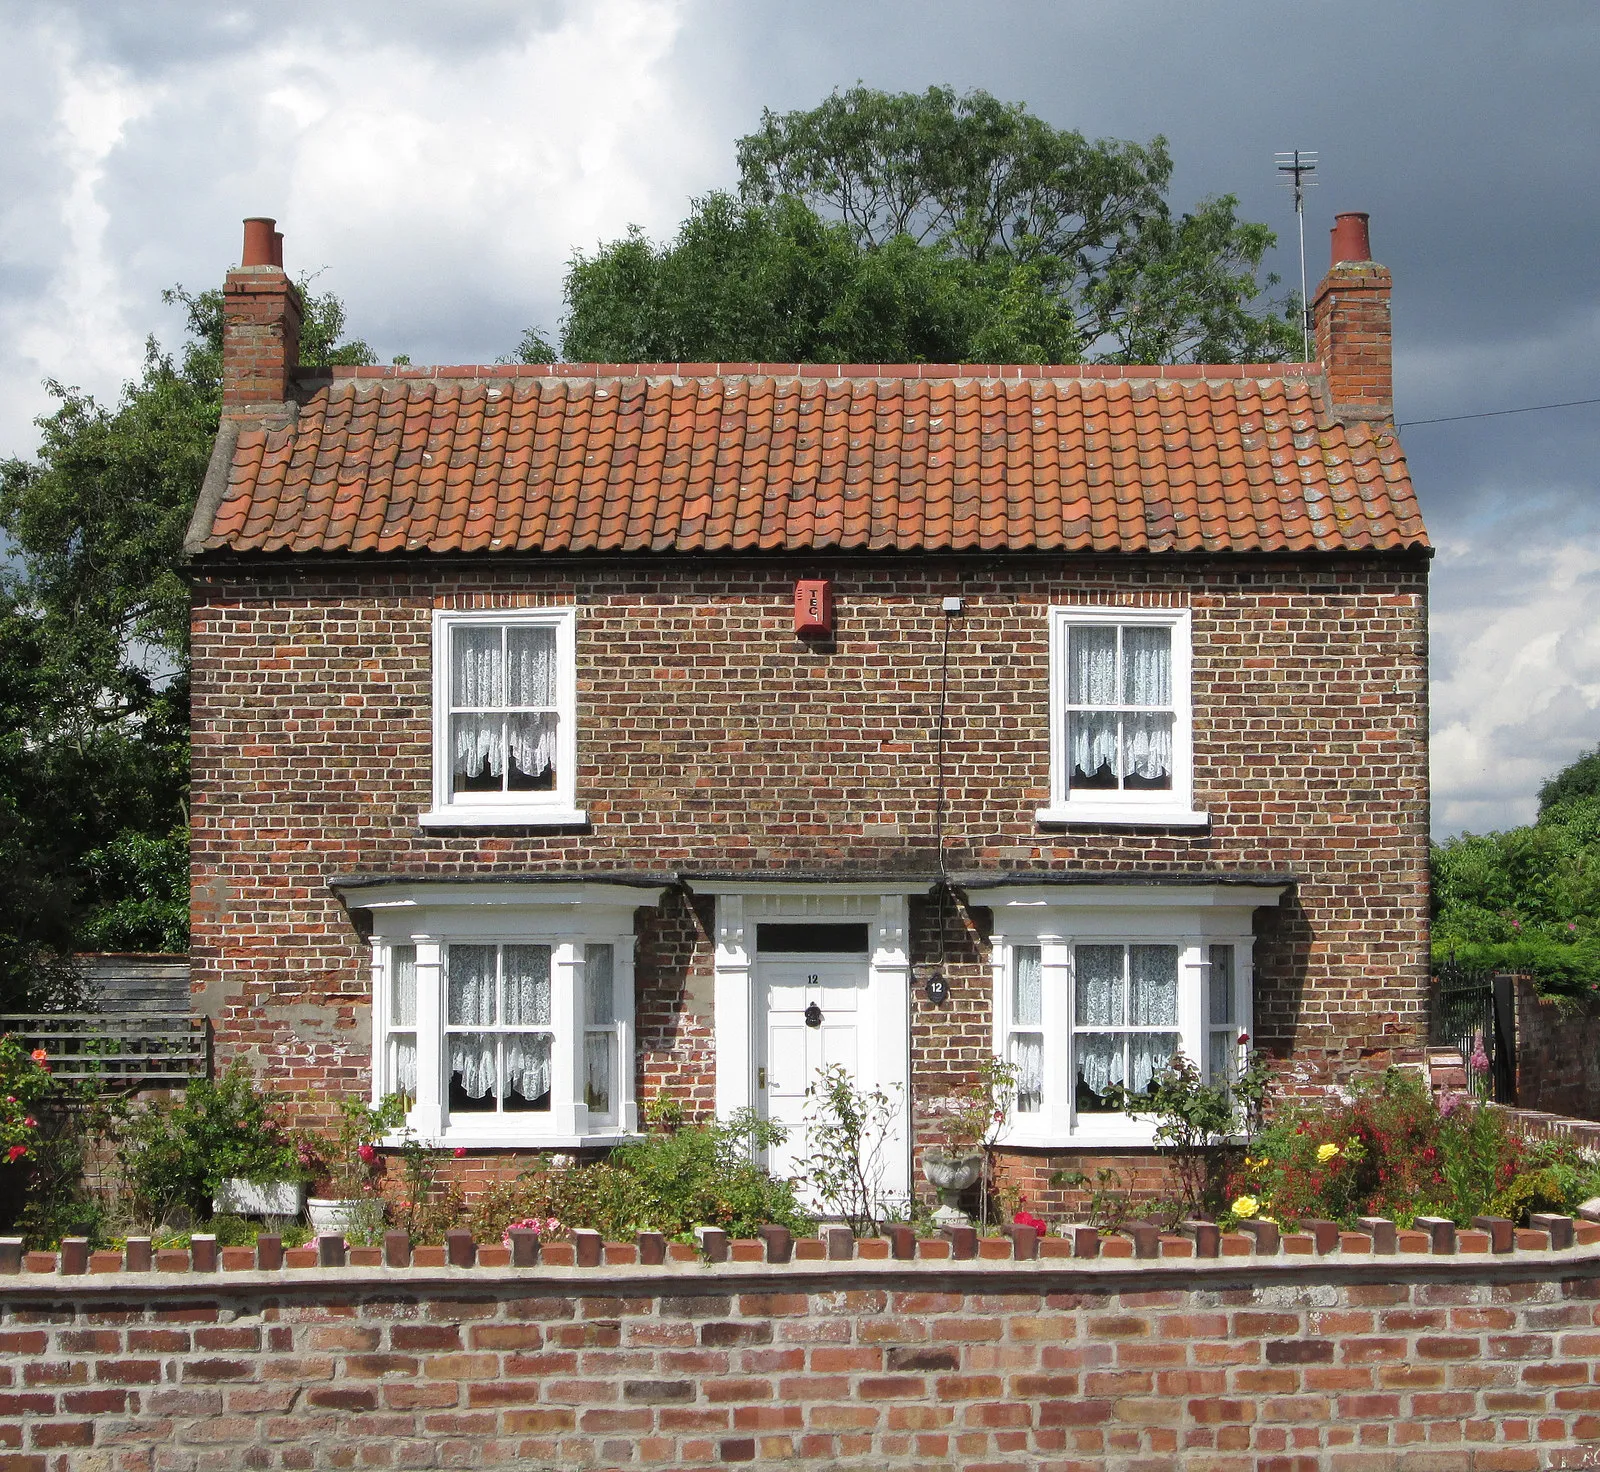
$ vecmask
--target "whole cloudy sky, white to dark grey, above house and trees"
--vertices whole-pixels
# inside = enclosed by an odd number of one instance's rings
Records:
[[[1320,152],[1312,277],[1368,210],[1402,422],[1600,397],[1594,0],[341,0],[0,6],[0,454],[43,379],[114,397],[160,290],[277,216],[387,358],[554,330],[573,246],[672,230],[763,106],[858,80],[981,86],[1091,136],[1163,133],[1174,203],[1280,230],[1272,155]],[[1600,405],[1403,434],[1434,563],[1434,818],[1525,822],[1600,742]]]

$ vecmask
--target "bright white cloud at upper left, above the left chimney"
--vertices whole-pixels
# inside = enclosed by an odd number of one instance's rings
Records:
[[[112,397],[146,333],[176,338],[160,290],[219,282],[246,214],[278,218],[291,270],[328,267],[379,350],[480,362],[554,328],[574,242],[664,232],[731,170],[715,90],[672,64],[682,0],[525,10],[454,43],[437,13],[374,14],[235,16],[194,54],[168,16],[154,59],[93,14],[0,27],[46,99],[8,109],[13,139],[56,160],[0,205],[0,451],[32,448],[45,376]]]

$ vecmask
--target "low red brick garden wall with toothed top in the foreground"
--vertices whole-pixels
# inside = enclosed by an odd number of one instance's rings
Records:
[[[1600,1226],[1549,1243],[0,1245],[0,1469],[1594,1466]]]

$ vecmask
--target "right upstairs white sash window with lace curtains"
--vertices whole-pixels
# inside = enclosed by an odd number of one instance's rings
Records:
[[[1198,826],[1189,614],[1051,611],[1051,805],[1042,822]]]

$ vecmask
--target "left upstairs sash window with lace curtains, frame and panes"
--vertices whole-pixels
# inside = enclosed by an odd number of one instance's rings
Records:
[[[434,810],[424,824],[582,822],[574,808],[574,614],[438,613]]]

